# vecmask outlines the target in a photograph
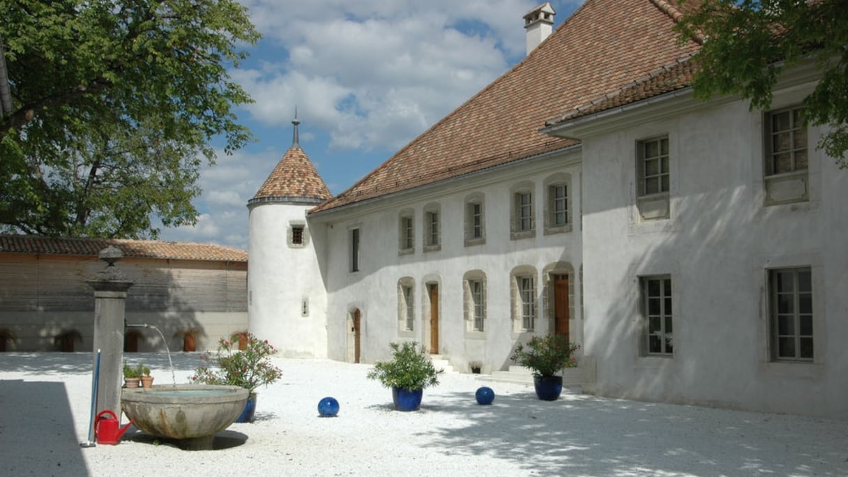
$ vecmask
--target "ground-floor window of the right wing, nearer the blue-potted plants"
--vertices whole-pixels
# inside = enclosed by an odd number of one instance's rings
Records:
[[[668,276],[642,278],[642,302],[647,351],[649,355],[671,355],[672,341],[672,278]]]

